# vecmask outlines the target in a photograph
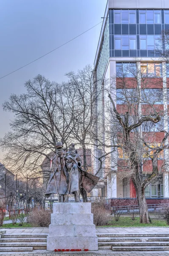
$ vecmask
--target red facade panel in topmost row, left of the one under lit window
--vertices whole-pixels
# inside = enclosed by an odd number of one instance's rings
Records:
[[[134,77],[116,78],[116,88],[137,88],[137,79]]]

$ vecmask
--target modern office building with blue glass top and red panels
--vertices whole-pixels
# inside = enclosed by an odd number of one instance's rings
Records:
[[[149,90],[152,97],[160,95],[159,102],[155,104],[166,114],[168,119],[167,108],[167,87],[168,74],[166,70],[169,64],[159,55],[165,51],[165,46],[160,43],[159,38],[164,30],[169,29],[169,0],[108,0],[104,14],[99,44],[97,47],[96,58],[94,61],[94,74],[99,80],[98,87],[104,86],[104,81],[111,81],[112,77],[117,76],[119,68],[127,70],[127,67],[137,64],[151,81]],[[126,73],[126,79],[130,79],[132,73]],[[158,81],[154,83],[154,80]],[[164,90],[165,89],[165,90]],[[116,79],[116,96],[121,93],[118,87],[118,78]],[[101,131],[104,138],[104,95],[100,94],[100,98],[96,104],[96,111],[101,113],[98,122],[102,125]],[[116,99],[116,107],[121,105],[121,101]],[[168,122],[161,124],[168,131]],[[146,129],[146,128],[145,128]],[[151,131],[151,130],[149,130]],[[155,130],[154,130],[155,131]],[[163,133],[158,133],[160,137]],[[160,142],[160,141],[159,141]],[[157,141],[158,143],[158,141]],[[99,154],[99,147],[95,147],[95,154]],[[160,165],[165,161],[167,152],[162,159],[158,160]],[[117,155],[117,161],[122,156]],[[96,161],[96,169],[99,164]],[[123,178],[117,172],[106,173],[104,169],[100,172],[102,178],[102,195],[107,198],[135,198],[135,189],[130,178]],[[147,198],[169,198],[169,172],[166,169],[163,172],[163,178],[158,183],[150,184],[146,188]]]

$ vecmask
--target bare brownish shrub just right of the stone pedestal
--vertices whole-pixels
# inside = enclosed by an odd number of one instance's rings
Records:
[[[93,221],[96,226],[107,225],[110,221],[110,207],[104,202],[92,203]]]

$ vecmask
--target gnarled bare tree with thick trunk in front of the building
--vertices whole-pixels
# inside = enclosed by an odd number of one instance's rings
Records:
[[[126,75],[129,71],[132,78]],[[150,79],[153,79],[153,86],[150,86]],[[163,165],[159,166],[158,159],[163,155],[164,149],[169,148],[169,134],[161,127],[164,111],[157,105],[163,100],[163,92],[161,94],[158,90],[153,90],[152,94],[150,88],[161,88],[160,73],[150,77],[144,67],[140,68],[134,63],[127,69],[119,67],[115,80],[112,78],[111,90],[108,91],[110,101],[107,100],[107,112],[104,116],[105,151],[99,159],[107,157],[110,166],[106,166],[107,173],[116,172],[118,169],[121,177],[131,178],[136,191],[141,223],[151,221],[145,188],[162,175],[166,166],[164,161]],[[158,142],[156,131],[162,134]],[[100,143],[101,140],[102,138],[99,140]]]

